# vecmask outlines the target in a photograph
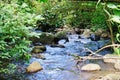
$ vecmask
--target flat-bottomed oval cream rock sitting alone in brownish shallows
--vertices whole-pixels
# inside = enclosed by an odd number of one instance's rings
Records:
[[[86,64],[84,65],[81,70],[82,71],[99,71],[101,69],[101,67],[98,64]]]

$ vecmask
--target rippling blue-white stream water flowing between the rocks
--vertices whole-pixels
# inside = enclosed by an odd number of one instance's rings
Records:
[[[87,60],[76,65],[76,60],[72,55],[86,56],[90,52],[85,48],[89,48],[92,51],[96,51],[103,47],[109,40],[91,41],[91,39],[79,38],[79,35],[69,35],[69,42],[64,39],[59,41],[60,45],[64,45],[65,48],[51,47],[46,45],[47,50],[42,53],[45,56],[45,60],[32,57],[30,63],[33,61],[39,62],[43,70],[36,73],[25,73],[25,68],[29,63],[22,64],[22,75],[27,79],[24,80],[91,80],[96,76],[100,76],[103,73],[115,71],[111,64],[105,64],[102,60]],[[101,51],[99,54],[105,55],[111,53],[109,49]],[[41,54],[41,53],[40,53]],[[80,70],[80,67],[87,63],[97,63],[102,67],[101,71],[84,72]],[[21,64],[20,64],[21,65]],[[23,80],[23,79],[21,79]]]

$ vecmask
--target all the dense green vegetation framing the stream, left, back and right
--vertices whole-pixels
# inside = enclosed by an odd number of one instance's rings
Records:
[[[11,74],[14,61],[29,61],[34,29],[55,32],[70,28],[104,29],[111,44],[120,43],[120,4],[79,0],[0,0],[0,74]],[[120,54],[119,47],[113,47]]]

